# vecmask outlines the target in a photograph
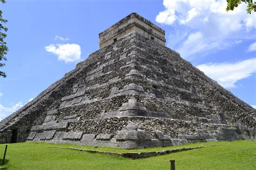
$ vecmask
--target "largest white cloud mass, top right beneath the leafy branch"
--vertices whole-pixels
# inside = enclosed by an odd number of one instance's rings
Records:
[[[156,22],[172,25],[167,45],[184,58],[252,39],[256,29],[256,13],[247,14],[245,3],[228,12],[226,0],[164,0],[163,4],[165,10],[159,12]]]

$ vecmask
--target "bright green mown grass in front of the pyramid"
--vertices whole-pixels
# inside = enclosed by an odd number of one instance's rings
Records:
[[[96,150],[92,146],[47,143],[8,144],[6,161],[0,169],[170,169],[171,159],[176,160],[176,169],[256,169],[256,143],[245,140],[155,147],[144,150],[107,147],[98,147],[97,150],[149,152],[197,146],[204,146],[204,148],[132,160],[113,155],[56,148],[77,147]],[[0,145],[1,159],[4,148],[5,145]],[[2,160],[0,161],[2,164]]]

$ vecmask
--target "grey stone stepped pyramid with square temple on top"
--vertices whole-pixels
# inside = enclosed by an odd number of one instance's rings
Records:
[[[131,13],[100,49],[0,125],[0,142],[121,148],[255,140],[255,112],[165,47],[165,31]]]

